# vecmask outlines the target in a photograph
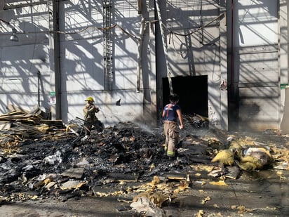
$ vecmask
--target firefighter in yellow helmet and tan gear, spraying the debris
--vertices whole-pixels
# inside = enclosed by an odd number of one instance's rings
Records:
[[[93,104],[94,99],[89,96],[85,101],[86,105],[83,107],[84,126],[86,129],[86,136],[90,136],[93,127],[98,131],[102,131],[103,124],[98,120],[98,117],[96,117],[96,113],[100,111],[100,108]]]

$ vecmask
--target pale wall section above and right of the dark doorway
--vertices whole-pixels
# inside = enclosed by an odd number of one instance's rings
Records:
[[[208,75],[210,125],[226,128],[221,126],[220,22],[224,16],[220,16],[220,4],[211,0],[159,2],[166,26],[168,63],[170,63],[172,77]],[[162,47],[159,46],[157,51],[161,53],[161,49]],[[165,60],[159,58],[159,63],[160,61]],[[160,64],[157,69],[159,82],[161,78],[167,77],[163,65],[166,63]],[[161,84],[159,86],[161,87]],[[187,98],[191,103],[194,103],[194,94],[191,93],[191,98]]]

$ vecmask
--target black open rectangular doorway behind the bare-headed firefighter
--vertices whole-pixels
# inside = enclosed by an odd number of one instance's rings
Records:
[[[173,77],[173,92],[180,96],[183,114],[199,114],[208,117],[208,76]],[[163,105],[169,103],[168,78],[163,78]]]

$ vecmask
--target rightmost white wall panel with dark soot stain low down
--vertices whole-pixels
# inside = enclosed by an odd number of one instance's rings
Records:
[[[278,129],[278,1],[235,1],[239,129]]]

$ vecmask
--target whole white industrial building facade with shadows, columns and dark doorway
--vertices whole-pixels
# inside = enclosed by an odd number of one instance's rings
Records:
[[[158,126],[168,95],[211,127],[285,129],[288,2],[6,0],[0,3],[0,113],[38,105],[108,126]]]

